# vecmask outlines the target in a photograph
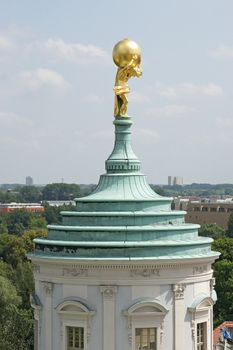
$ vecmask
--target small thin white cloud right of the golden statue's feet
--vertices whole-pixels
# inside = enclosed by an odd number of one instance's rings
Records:
[[[168,105],[158,108],[151,108],[148,110],[148,114],[159,117],[180,117],[184,114],[190,114],[195,109],[186,105]]]

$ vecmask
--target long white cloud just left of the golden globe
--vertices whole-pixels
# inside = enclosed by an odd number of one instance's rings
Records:
[[[66,43],[61,38],[49,38],[42,46],[55,56],[69,62],[80,63],[86,59],[106,60],[108,53],[92,44]]]

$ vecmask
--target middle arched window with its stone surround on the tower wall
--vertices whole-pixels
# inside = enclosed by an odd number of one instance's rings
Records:
[[[123,311],[128,318],[128,336],[132,350],[162,350],[167,312],[156,299],[140,299]]]

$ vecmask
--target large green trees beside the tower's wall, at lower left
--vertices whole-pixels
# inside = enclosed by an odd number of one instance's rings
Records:
[[[26,231],[22,237],[0,235],[0,349],[33,350],[33,311],[29,294],[34,290],[32,266],[26,252],[33,238],[45,229]]]

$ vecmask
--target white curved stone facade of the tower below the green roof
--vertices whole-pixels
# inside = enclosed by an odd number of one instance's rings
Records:
[[[213,259],[31,260],[36,350],[68,350],[68,327],[84,330],[81,350],[138,350],[139,328],[156,328],[153,350],[213,348]],[[198,323],[203,348],[197,346]]]

